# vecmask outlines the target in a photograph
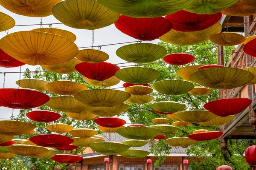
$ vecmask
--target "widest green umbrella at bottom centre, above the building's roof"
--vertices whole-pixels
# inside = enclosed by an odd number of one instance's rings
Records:
[[[95,142],[90,144],[90,148],[101,154],[118,155],[130,147],[119,142]]]

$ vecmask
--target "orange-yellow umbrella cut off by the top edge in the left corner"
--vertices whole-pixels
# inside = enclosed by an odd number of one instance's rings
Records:
[[[9,11],[27,17],[47,17],[52,7],[61,0],[0,0],[1,6]]]

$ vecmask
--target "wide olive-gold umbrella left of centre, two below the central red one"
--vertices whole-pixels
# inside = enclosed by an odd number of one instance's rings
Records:
[[[74,95],[75,99],[92,107],[120,105],[130,96],[131,94],[125,91],[113,89],[92,89]]]

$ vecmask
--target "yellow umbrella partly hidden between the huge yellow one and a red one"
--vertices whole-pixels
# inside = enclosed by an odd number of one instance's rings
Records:
[[[81,63],[79,59],[73,58],[68,60],[67,62],[63,62],[60,64],[54,64],[54,65],[40,65],[42,68],[59,73],[59,74],[70,74],[76,71],[75,66],[77,64]]]

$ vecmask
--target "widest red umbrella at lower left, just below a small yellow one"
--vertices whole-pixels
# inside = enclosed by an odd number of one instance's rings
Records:
[[[74,142],[73,139],[71,139],[68,136],[64,136],[62,134],[37,135],[37,136],[30,137],[29,140],[43,147],[61,147],[61,146],[67,146],[68,144],[71,144]]]

